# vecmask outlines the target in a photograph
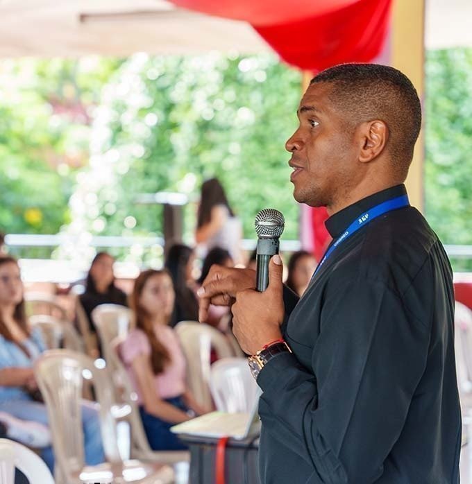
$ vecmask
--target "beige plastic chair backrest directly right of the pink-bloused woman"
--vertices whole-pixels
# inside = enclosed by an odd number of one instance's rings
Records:
[[[210,356],[214,348],[219,358],[234,356],[226,336],[217,329],[196,321],[180,321],[174,328],[187,359],[187,383],[196,401],[212,407],[210,394]]]

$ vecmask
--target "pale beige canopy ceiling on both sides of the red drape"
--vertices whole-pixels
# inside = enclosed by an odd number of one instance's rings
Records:
[[[0,0],[0,57],[77,57],[271,49],[244,21],[165,0]],[[426,0],[428,49],[472,46],[471,0]]]

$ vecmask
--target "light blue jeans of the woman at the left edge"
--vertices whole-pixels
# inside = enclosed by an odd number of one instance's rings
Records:
[[[46,406],[39,401],[10,400],[0,402],[0,410],[21,420],[31,420],[48,424]],[[87,465],[101,464],[105,461],[101,443],[99,415],[90,404],[82,404],[82,425],[85,448],[85,463]],[[51,472],[54,469],[54,453],[52,447],[46,447],[41,451],[41,457]]]

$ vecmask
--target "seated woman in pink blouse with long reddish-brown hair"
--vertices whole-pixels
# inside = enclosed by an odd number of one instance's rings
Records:
[[[205,413],[186,388],[185,356],[168,326],[174,297],[167,270],[142,272],[130,297],[136,327],[121,345],[121,358],[138,395],[144,430],[151,449],[156,451],[185,449],[170,427],[195,413]]]

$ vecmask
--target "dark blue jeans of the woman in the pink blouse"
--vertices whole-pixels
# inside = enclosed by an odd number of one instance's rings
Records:
[[[183,403],[182,397],[169,398],[165,401],[184,412],[188,410],[187,406]],[[147,413],[142,406],[140,406],[140,414],[146,437],[153,451],[187,450],[187,447],[178,440],[177,435],[169,430],[174,424],[165,422],[165,420],[161,420]]]

